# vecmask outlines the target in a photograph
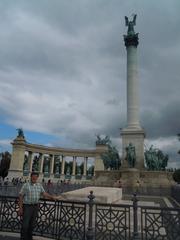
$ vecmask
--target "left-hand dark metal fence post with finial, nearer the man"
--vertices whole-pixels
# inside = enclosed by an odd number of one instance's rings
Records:
[[[94,231],[93,231],[93,224],[92,224],[92,216],[93,216],[93,205],[94,205],[94,198],[93,191],[90,191],[90,194],[88,196],[89,198],[89,222],[88,222],[88,228],[86,233],[86,239],[87,240],[93,240],[94,239]]]

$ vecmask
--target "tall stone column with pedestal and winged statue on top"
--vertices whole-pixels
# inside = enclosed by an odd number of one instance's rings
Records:
[[[128,26],[124,42],[127,50],[127,127],[121,131],[122,135],[122,159],[123,167],[129,167],[126,159],[126,148],[131,143],[135,147],[135,168],[144,168],[144,137],[145,132],[139,121],[139,83],[138,83],[138,61],[137,46],[139,43],[138,33],[134,32],[136,15],[133,21],[125,17]]]

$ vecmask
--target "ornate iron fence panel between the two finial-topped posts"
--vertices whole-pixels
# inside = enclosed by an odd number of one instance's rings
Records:
[[[130,206],[97,204],[95,239],[130,239]]]

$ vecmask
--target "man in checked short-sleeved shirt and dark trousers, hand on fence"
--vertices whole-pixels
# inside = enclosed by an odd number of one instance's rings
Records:
[[[39,175],[31,173],[31,181],[25,183],[19,193],[19,215],[22,216],[21,239],[32,240],[32,231],[38,215],[38,202],[41,196],[58,200],[60,197],[45,192],[43,186],[37,183]]]

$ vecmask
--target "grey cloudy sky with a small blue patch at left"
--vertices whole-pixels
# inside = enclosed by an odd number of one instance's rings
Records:
[[[94,148],[126,126],[124,16],[137,14],[140,122],[180,167],[179,0],[0,0],[0,150]]]

